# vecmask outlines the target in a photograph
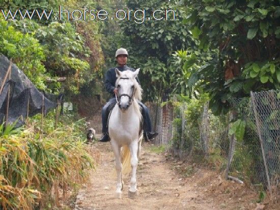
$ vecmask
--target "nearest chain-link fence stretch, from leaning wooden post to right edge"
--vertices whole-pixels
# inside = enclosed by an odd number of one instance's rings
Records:
[[[233,99],[237,118],[246,122],[243,140],[235,142],[229,174],[280,198],[280,90]]]

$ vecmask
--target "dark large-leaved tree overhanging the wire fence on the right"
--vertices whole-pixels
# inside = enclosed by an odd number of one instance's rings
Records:
[[[202,58],[190,77],[209,92],[214,113],[226,112],[231,97],[280,88],[278,1],[186,0],[180,8]]]

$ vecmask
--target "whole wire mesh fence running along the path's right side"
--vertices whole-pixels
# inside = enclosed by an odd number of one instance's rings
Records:
[[[280,198],[280,90],[233,98],[231,112],[214,116],[204,104],[191,116],[193,104],[163,107],[149,104],[157,144],[170,143],[181,160],[201,159],[225,170],[226,178],[245,181]],[[193,113],[192,113],[193,114]],[[245,122],[244,136],[230,135],[232,122]]]

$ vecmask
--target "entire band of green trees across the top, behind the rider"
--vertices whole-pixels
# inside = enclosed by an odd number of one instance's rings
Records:
[[[145,101],[167,100],[172,94],[199,98],[207,93],[212,111],[218,114],[227,112],[232,97],[280,88],[278,1],[33,0],[5,1],[3,8],[58,10],[58,5],[105,9],[109,14],[139,9],[145,10],[145,19],[139,23],[127,18],[6,21],[1,17],[0,52],[13,58],[39,88],[58,91],[59,83],[45,81],[59,76],[67,76],[65,88],[74,94],[92,81],[101,84],[105,71],[115,65],[119,47],[127,48],[130,66],[141,68]],[[166,19],[156,20],[155,10],[170,12]]]

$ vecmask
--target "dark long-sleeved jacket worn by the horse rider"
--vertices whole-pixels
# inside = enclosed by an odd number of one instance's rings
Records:
[[[106,91],[111,93],[113,97],[115,97],[114,89],[115,89],[115,83],[117,80],[116,71],[115,71],[116,68],[118,68],[119,71],[128,71],[128,70],[135,71],[134,68],[128,67],[127,65],[110,68],[107,71],[106,76],[105,76],[105,88],[106,88]],[[136,77],[136,81],[139,83],[138,77]]]

